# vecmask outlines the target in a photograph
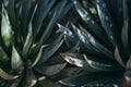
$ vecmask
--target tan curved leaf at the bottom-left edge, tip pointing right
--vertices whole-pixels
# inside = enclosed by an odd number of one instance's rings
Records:
[[[2,69],[0,69],[0,77],[7,80],[15,79],[17,76],[10,75],[5,73]]]

